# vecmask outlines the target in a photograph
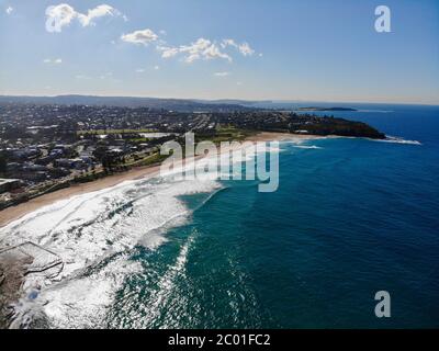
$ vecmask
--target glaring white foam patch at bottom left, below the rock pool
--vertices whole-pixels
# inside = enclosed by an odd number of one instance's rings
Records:
[[[122,287],[127,274],[140,270],[139,263],[120,257],[91,274],[43,290],[35,299],[24,296],[15,306],[11,327],[44,322],[52,328],[103,328],[106,308],[115,292]]]

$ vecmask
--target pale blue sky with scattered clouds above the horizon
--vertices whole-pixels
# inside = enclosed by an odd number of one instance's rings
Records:
[[[0,94],[439,104],[435,0],[0,0]]]

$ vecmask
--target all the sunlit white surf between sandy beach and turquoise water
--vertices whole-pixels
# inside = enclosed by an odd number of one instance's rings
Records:
[[[97,326],[127,272],[135,269],[124,258],[99,272],[89,271],[136,245],[156,248],[166,240],[169,227],[184,224],[190,216],[181,195],[212,193],[218,188],[212,180],[130,181],[45,206],[2,228],[0,246],[35,242],[64,262],[55,280],[26,276],[15,325],[45,315],[55,327]],[[27,298],[35,291],[37,297]]]

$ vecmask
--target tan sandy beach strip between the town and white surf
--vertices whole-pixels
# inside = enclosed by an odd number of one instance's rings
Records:
[[[284,139],[316,139],[322,136],[300,135],[290,133],[261,132],[245,139],[245,141],[281,141]],[[160,171],[160,165],[136,167],[126,172],[108,176],[89,183],[74,184],[69,188],[56,190],[52,193],[41,195],[27,202],[21,203],[0,211],[0,228],[10,223],[22,218],[23,216],[37,211],[44,206],[52,205],[58,201],[67,200],[76,195],[91,193],[103,189],[112,188],[124,181],[148,179],[157,176]]]

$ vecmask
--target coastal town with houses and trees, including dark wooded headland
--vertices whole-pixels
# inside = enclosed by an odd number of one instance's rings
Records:
[[[177,109],[1,103],[0,210],[75,183],[159,163],[160,146],[180,140],[187,132],[214,143],[262,131],[383,137],[362,123],[291,111],[195,102]]]

